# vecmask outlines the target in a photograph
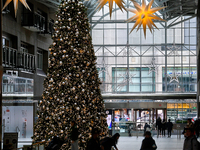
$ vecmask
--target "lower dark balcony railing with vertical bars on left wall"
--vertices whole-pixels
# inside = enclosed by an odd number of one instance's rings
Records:
[[[3,46],[3,65],[6,68],[23,68],[33,72],[35,70],[35,56],[18,52],[16,49]]]

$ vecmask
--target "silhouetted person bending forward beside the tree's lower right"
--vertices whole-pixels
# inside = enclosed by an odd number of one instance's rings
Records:
[[[114,146],[115,149],[118,150],[116,145],[117,145],[119,137],[120,137],[120,134],[115,133],[111,138],[105,138],[105,140],[103,140],[103,142],[101,143],[101,149],[111,150],[112,146]]]

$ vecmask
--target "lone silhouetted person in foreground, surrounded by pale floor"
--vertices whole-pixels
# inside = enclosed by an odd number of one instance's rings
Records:
[[[155,140],[151,137],[151,132],[146,131],[144,135],[145,139],[142,141],[140,150],[156,150],[157,145]]]

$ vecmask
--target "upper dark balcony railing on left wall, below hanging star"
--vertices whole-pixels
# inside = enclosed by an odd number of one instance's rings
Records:
[[[31,31],[45,31],[45,17],[37,12],[22,13],[22,26]]]

